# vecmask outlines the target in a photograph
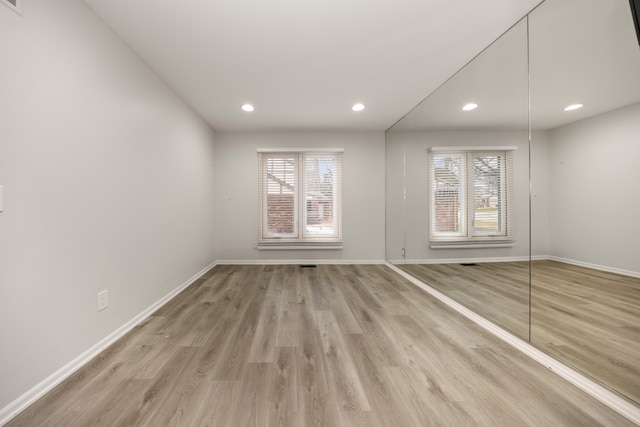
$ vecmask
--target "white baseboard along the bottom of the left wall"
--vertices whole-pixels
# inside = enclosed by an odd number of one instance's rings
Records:
[[[160,307],[171,301],[176,295],[182,292],[184,289],[188,288],[192,285],[196,280],[202,277],[207,271],[211,270],[216,266],[216,263],[213,262],[200,270],[194,276],[183,282],[180,286],[175,288],[173,291],[169,292],[167,295],[162,297],[160,300],[156,301],[149,307],[147,307],[140,314],[129,320],[124,325],[120,326],[115,331],[111,332],[109,335],[104,337],[102,340],[98,341],[95,345],[87,349],[84,353],[80,354],[75,359],[71,360],[69,363],[58,369],[56,372],[42,380],[35,387],[31,388],[27,392],[25,392],[22,396],[11,402],[9,405],[0,409],[0,426],[5,425],[15,416],[17,416],[20,412],[24,411],[30,405],[32,405],[36,400],[40,399],[47,392],[53,389],[55,386],[60,384],[62,381],[71,376],[78,369],[82,368],[84,365],[89,363],[92,359],[94,359],[98,354],[104,351],[107,347],[115,343],[117,340],[122,338],[127,332],[135,328],[137,325],[142,323],[147,317],[153,314]]]

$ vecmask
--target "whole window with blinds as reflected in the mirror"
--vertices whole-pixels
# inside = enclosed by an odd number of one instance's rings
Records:
[[[431,148],[431,247],[512,243],[514,147]]]

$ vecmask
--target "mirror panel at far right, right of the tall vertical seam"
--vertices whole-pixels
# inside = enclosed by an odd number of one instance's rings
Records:
[[[531,342],[640,402],[640,47],[629,2],[547,0],[529,28],[531,153],[547,159],[531,171],[532,234],[547,236],[547,256],[533,254]]]

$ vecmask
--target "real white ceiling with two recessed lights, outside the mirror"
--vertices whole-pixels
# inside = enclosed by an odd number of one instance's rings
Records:
[[[540,2],[84,1],[218,131],[386,130]]]

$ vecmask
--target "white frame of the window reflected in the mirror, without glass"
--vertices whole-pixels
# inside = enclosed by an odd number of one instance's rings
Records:
[[[514,200],[514,155],[517,147],[432,147],[428,150],[429,171],[429,244],[433,249],[461,247],[509,247],[515,244],[513,236]],[[450,156],[459,160],[457,178],[458,229],[455,231],[436,230],[436,161],[437,157]],[[475,228],[475,159],[490,156],[500,159],[498,194],[499,230]],[[455,187],[455,185],[453,186]]]

